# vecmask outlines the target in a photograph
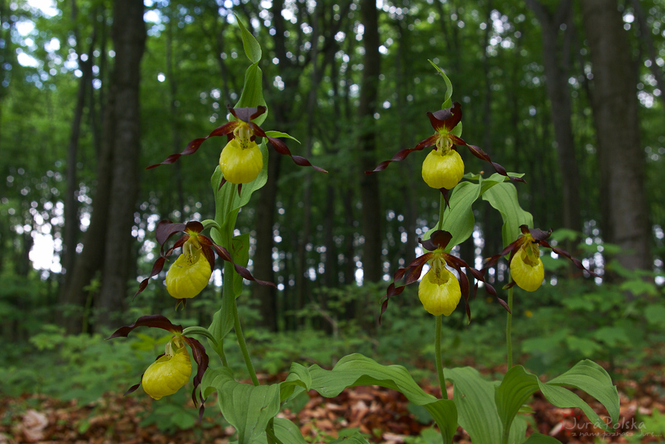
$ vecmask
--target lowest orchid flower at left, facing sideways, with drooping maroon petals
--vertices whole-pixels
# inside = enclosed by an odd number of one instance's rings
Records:
[[[173,338],[166,343],[164,354],[157,356],[154,363],[150,364],[146,372],[141,376],[141,382],[130,387],[125,395],[143,386],[143,390],[155,400],[161,397],[173,395],[187,384],[191,375],[191,361],[187,345],[191,348],[191,355],[198,365],[196,376],[194,376],[194,390],[191,392],[191,400],[198,406],[196,399],[196,389],[201,385],[203,373],[208,368],[208,354],[205,353],[205,347],[198,340],[189,338],[182,334],[182,326],[172,324],[171,321],[162,315],[141,316],[134,324],[120,327],[108,339],[124,337],[138,327],[153,327],[171,331]],[[203,416],[203,395],[199,393],[201,399],[201,409],[199,416]]]

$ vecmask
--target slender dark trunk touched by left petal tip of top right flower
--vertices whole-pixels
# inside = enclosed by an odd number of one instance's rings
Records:
[[[361,167],[371,171],[376,166],[376,122],[379,89],[380,54],[379,28],[376,2],[361,0],[361,18],[365,26],[363,46],[365,59],[360,92],[358,120],[361,133],[358,140],[361,153]],[[363,281],[377,282],[382,277],[381,263],[381,220],[379,181],[377,174],[363,174],[360,182],[360,195],[363,205]]]

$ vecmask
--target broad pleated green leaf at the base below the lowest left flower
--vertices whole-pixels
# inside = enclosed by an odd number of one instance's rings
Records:
[[[233,379],[228,368],[208,369],[201,382],[203,397],[217,391],[219,410],[238,432],[238,443],[249,444],[265,434],[279,413],[279,384],[252,386]]]

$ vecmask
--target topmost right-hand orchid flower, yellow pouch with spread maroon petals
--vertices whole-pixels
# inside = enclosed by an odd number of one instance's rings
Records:
[[[430,135],[430,137],[419,142],[413,148],[402,149],[391,160],[380,163],[373,171],[366,171],[365,174],[383,171],[391,162],[403,161],[413,151],[421,151],[427,147],[434,147],[423,162],[423,180],[432,188],[450,190],[464,176],[464,162],[462,162],[462,158],[457,153],[456,147],[464,146],[477,158],[491,163],[494,170],[499,174],[503,174],[503,176],[508,177],[511,181],[524,182],[522,178],[508,176],[506,168],[496,162],[492,162],[492,159],[490,159],[490,156],[485,151],[475,145],[467,144],[459,135],[453,133],[455,126],[462,120],[462,105],[460,102],[456,101],[453,103],[452,108],[439,110],[435,113],[428,112],[427,115],[430,118],[432,128],[436,131],[434,135]]]

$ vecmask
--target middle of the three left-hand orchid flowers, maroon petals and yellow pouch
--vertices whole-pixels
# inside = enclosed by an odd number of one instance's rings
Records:
[[[182,247],[182,254],[178,256],[173,265],[171,265],[171,268],[169,268],[169,271],[166,272],[166,290],[169,291],[169,295],[178,299],[178,304],[198,295],[208,285],[212,270],[214,269],[215,253],[224,259],[224,261],[233,263],[235,271],[244,279],[255,281],[260,285],[274,286],[272,282],[254,279],[247,268],[233,262],[226,248],[215,244],[208,236],[203,236],[201,231],[203,231],[203,224],[201,222],[191,221],[187,222],[187,224],[177,224],[170,220],[159,222],[157,229],[155,229],[155,237],[159,245],[162,246],[162,249],[160,250],[159,258],[155,261],[155,265],[152,265],[150,276],[141,281],[136,295],[146,289],[151,277],[157,276],[157,274],[162,272],[166,258],[171,256],[173,251],[180,247]],[[176,233],[184,234],[180,239],[175,241],[173,247],[164,252],[164,244]]]

